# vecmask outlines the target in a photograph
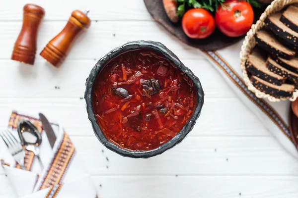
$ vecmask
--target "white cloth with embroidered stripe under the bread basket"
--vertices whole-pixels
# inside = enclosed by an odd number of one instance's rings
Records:
[[[298,158],[298,150],[292,143],[288,126],[290,101],[270,102],[267,99],[258,99],[246,88],[240,68],[242,42],[243,40],[217,51],[203,52],[243,103],[258,116],[282,146]]]

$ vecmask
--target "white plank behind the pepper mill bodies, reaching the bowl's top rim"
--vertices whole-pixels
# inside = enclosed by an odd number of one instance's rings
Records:
[[[44,60],[38,54],[65,24],[64,21],[45,21],[41,24],[36,59]],[[22,22],[0,21],[0,26],[0,59],[9,59]],[[153,21],[92,21],[90,28],[75,42],[68,59],[99,59],[110,50],[137,40],[162,42],[179,58],[205,59],[199,49],[178,42]]]

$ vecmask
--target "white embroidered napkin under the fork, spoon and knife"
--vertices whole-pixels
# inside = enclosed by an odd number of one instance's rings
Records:
[[[4,172],[15,189],[18,197],[22,198],[97,198],[93,181],[79,160],[74,145],[68,134],[57,122],[51,125],[57,136],[53,149],[47,139],[38,116],[28,116],[13,111],[8,129],[19,140],[16,126],[21,118],[29,119],[41,132],[42,144],[40,164],[31,151],[26,151],[25,167],[20,169],[6,145],[0,140],[0,159]]]

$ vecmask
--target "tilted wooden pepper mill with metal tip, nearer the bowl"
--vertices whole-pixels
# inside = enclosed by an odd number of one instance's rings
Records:
[[[86,30],[91,21],[87,17],[89,9],[84,12],[74,10],[63,30],[52,39],[41,51],[40,55],[55,67],[59,67],[67,56],[75,38]]]

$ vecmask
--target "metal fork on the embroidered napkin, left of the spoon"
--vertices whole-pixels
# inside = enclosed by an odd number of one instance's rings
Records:
[[[25,150],[22,147],[21,143],[17,141],[8,130],[1,132],[0,136],[7,146],[9,152],[13,156],[14,160],[22,167],[22,169],[26,169],[24,163]]]

